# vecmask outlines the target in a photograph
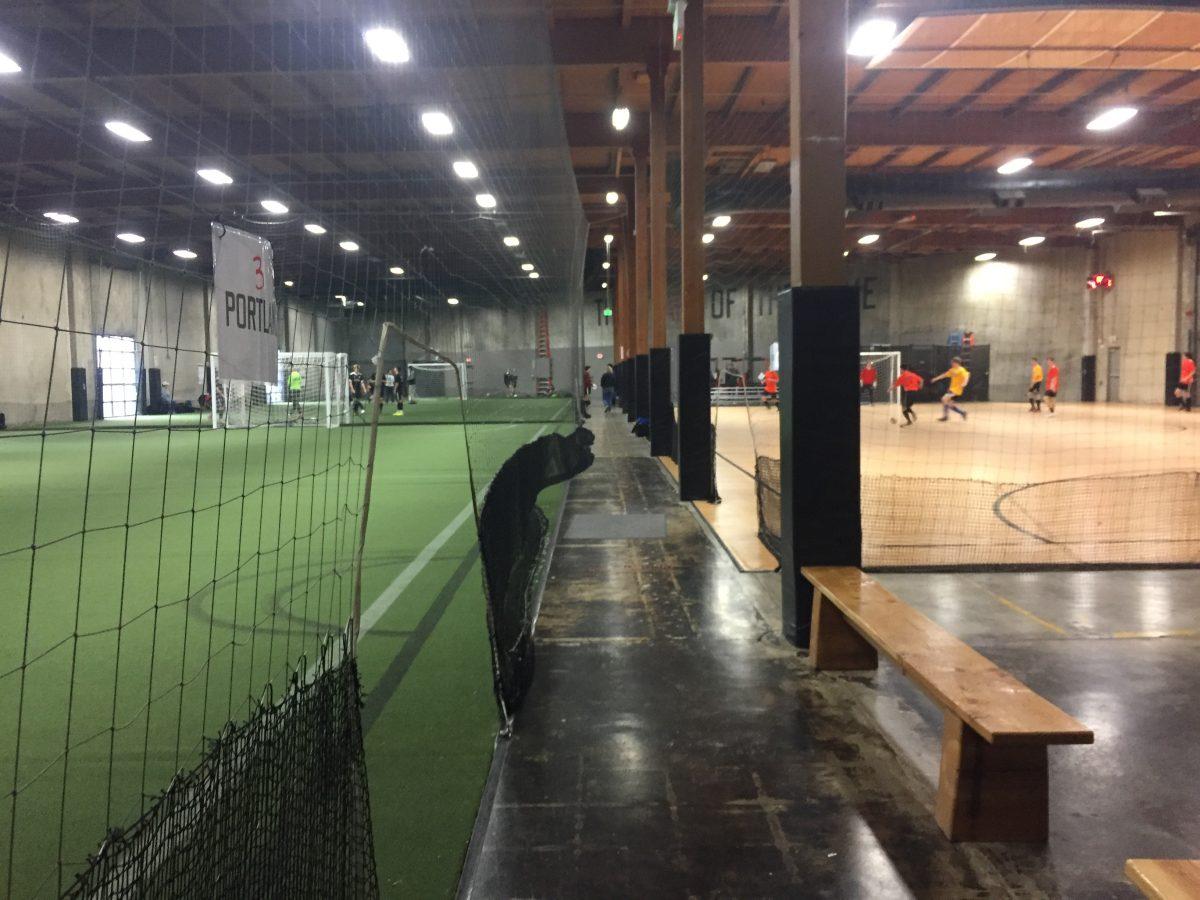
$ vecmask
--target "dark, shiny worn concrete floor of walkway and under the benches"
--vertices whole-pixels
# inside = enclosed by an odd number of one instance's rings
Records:
[[[1127,857],[1200,856],[1200,575],[881,577],[1096,730],[1050,750],[1045,846],[954,845],[937,709],[887,665],[815,676],[778,576],[738,572],[623,418],[592,425],[470,896],[1132,898]],[[604,514],[666,538],[570,536]]]

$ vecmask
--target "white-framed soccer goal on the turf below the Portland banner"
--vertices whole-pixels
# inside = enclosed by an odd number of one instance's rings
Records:
[[[274,384],[220,377],[212,361],[212,427],[318,425],[350,420],[349,360],[344,353],[280,352]]]

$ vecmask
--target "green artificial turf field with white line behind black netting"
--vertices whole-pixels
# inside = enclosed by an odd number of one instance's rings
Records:
[[[509,412],[467,431],[478,487],[572,427],[569,401]],[[106,824],[344,622],[367,433],[0,438],[0,894],[56,893]],[[388,895],[452,893],[496,736],[464,463],[462,427],[380,432],[360,659]]]

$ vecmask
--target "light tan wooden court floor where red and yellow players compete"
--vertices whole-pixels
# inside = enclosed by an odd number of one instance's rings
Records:
[[[1200,412],[965,408],[965,421],[940,422],[938,407],[918,406],[912,427],[863,408],[864,565],[1200,563]],[[749,473],[756,454],[778,458],[779,415],[720,407],[713,420],[722,503],[706,518],[732,551],[757,539]]]

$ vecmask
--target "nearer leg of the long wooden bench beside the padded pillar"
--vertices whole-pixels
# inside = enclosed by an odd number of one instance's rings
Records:
[[[952,841],[1044,841],[1050,830],[1046,746],[995,746],[946,713],[937,824]]]

